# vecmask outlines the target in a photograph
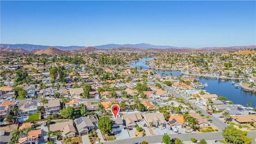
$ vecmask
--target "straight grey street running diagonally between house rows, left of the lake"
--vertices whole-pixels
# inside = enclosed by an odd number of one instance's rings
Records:
[[[150,83],[154,83],[154,82],[150,82]],[[162,85],[165,86],[165,85]],[[188,99],[184,98],[182,95],[178,94],[177,92],[173,91],[170,87],[165,86],[165,90],[168,90],[168,92],[170,94],[173,94],[175,97],[179,97],[179,98],[183,98],[185,102],[189,102],[191,104],[191,106],[195,107],[197,110],[202,111],[202,113],[204,115],[208,115],[211,117],[212,119],[212,124],[217,126],[219,130],[223,130],[225,129],[225,127],[227,126],[227,124],[225,124],[224,122],[222,122],[219,118],[214,117],[212,115],[207,114],[207,112],[202,109],[201,107],[198,107],[197,105],[195,105],[193,102],[189,101]]]

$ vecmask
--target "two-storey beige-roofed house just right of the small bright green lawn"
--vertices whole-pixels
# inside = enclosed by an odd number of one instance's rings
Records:
[[[44,109],[46,115],[52,115],[60,112],[60,100],[53,99],[49,100],[48,103],[44,103]]]

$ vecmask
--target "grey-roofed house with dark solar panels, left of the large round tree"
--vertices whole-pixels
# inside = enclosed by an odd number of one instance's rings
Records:
[[[89,117],[79,117],[75,119],[75,124],[79,135],[89,134],[91,130],[95,129]]]

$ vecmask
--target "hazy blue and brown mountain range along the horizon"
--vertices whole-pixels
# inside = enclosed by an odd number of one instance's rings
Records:
[[[116,49],[116,50],[131,50],[131,51],[154,51],[154,52],[235,52],[239,50],[256,48],[256,45],[251,46],[229,46],[229,47],[202,47],[193,49],[189,47],[175,47],[167,45],[151,45],[151,44],[107,44],[100,46],[46,46],[33,44],[1,44],[1,53],[35,53],[35,54],[71,54],[94,52],[97,50]]]

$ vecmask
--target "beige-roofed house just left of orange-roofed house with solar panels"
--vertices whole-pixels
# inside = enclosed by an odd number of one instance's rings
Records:
[[[148,127],[157,127],[158,125],[162,125],[162,127],[166,127],[167,122],[165,121],[163,113],[148,113],[143,115],[145,122]],[[151,124],[153,122],[153,124]]]

